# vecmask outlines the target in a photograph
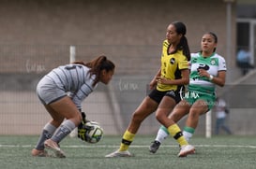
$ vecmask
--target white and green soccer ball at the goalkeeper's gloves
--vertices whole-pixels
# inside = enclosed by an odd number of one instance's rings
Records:
[[[103,137],[103,129],[100,127],[97,121],[88,121],[85,123],[86,126],[92,129],[86,134],[86,142],[98,143]]]

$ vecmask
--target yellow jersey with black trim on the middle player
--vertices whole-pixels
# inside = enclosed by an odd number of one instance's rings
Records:
[[[167,79],[179,79],[182,77],[181,70],[188,69],[188,59],[183,54],[182,50],[177,50],[177,52],[170,54],[169,48],[170,43],[167,40],[164,40],[161,54],[161,77]],[[158,83],[157,89],[161,92],[176,90],[177,85]]]

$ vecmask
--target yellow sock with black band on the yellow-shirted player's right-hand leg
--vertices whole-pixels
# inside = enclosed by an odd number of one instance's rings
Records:
[[[177,140],[180,146],[188,145],[188,141],[183,136],[179,126],[177,124],[173,124],[168,127],[168,132],[173,136],[175,140]]]

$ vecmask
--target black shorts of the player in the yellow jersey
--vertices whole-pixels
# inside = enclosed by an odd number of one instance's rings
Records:
[[[180,86],[176,91],[171,90],[171,91],[161,92],[161,91],[158,91],[157,89],[154,89],[152,92],[148,94],[148,96],[152,100],[156,101],[158,104],[161,102],[163,96],[169,96],[169,97],[172,97],[177,104],[181,101],[182,97],[184,96],[184,93],[185,93],[185,87]]]

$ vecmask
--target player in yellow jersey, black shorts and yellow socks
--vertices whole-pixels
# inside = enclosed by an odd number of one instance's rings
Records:
[[[155,111],[157,120],[167,128],[171,136],[181,146],[178,157],[185,157],[194,152],[194,147],[188,145],[178,125],[173,120],[168,119],[173,107],[181,100],[182,86],[188,84],[189,81],[188,61],[190,60],[190,52],[185,36],[186,32],[187,28],[183,22],[174,21],[168,25],[166,40],[164,40],[162,47],[161,67],[149,84],[152,91],[133,112],[128,128],[123,134],[120,148],[105,157],[133,156],[128,151],[128,147],[143,120]]]

